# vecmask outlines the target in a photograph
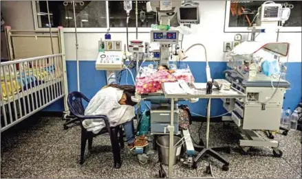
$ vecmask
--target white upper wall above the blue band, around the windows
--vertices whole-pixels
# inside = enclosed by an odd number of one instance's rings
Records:
[[[1,10],[8,16],[6,20],[12,29],[33,29],[32,6],[30,1],[1,1]],[[192,25],[194,34],[184,36],[183,48],[193,43],[202,43],[206,46],[209,61],[223,61],[223,42],[234,39],[235,33],[224,33],[225,1],[199,1],[200,24]],[[8,9],[6,9],[8,8]],[[105,33],[79,33],[78,58],[79,60],[96,60],[98,54],[98,40],[104,38]],[[259,35],[258,39],[276,39],[277,34]],[[129,40],[136,38],[135,33],[129,34]],[[138,34],[140,40],[149,41],[150,35]],[[246,39],[247,34],[242,34]],[[126,43],[125,33],[111,33],[112,40],[122,40]],[[290,62],[301,62],[301,32],[280,33],[279,41],[288,42],[290,46]],[[151,45],[154,46],[154,45]],[[74,33],[65,33],[65,51],[67,60],[76,60],[76,46]],[[201,47],[194,47],[186,53],[189,61],[204,61],[204,51]]]

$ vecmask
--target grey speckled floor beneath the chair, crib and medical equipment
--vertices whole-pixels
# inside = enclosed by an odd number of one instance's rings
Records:
[[[109,136],[94,139],[93,150],[85,154],[85,163],[78,164],[80,154],[80,127],[63,130],[61,118],[31,117],[1,133],[1,178],[158,178],[158,163],[140,165],[136,156],[125,149],[121,169],[113,168]],[[191,134],[198,141],[201,123],[191,125]],[[205,123],[201,128],[205,138]],[[239,130],[230,125],[212,123],[210,146],[230,145],[232,152],[223,154],[230,160],[229,171],[209,157],[198,163],[197,169],[188,169],[177,163],[175,178],[206,178],[206,163],[213,163],[215,178],[301,178],[301,132],[288,136],[276,134],[283,151],[274,158],[272,150],[256,147],[246,156],[238,151]],[[265,135],[259,132],[259,136]],[[164,166],[167,169],[166,166]]]

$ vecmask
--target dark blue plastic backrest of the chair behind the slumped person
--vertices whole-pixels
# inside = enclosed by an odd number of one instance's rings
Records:
[[[67,97],[67,104],[69,107],[70,112],[78,118],[83,118],[85,113],[85,108],[83,106],[83,99],[86,102],[89,102],[90,99],[85,97],[82,93],[78,91],[73,91],[69,93]]]

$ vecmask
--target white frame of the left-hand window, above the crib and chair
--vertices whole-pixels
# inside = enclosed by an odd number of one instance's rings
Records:
[[[32,14],[34,16],[34,29],[39,31],[45,31],[48,32],[50,29],[47,27],[39,27],[39,19],[36,12],[36,1],[32,1]],[[109,27],[109,2],[106,1],[106,21],[107,21],[107,27],[76,27],[76,31],[74,27],[63,27],[64,32],[94,32],[94,33],[122,33],[127,32],[127,27]],[[126,13],[126,12],[125,12]],[[57,29],[57,27],[52,27],[52,29]],[[109,30],[109,31],[108,31]],[[138,32],[140,33],[149,33],[151,31],[151,27],[138,27]],[[128,27],[129,33],[135,33],[136,27]]]

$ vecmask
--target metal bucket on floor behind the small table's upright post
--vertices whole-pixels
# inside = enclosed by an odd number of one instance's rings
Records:
[[[182,150],[182,142],[180,137],[174,136],[173,146],[177,143],[177,146],[174,148],[174,161],[173,165],[176,164],[177,160],[180,159],[180,152]],[[160,163],[164,165],[169,165],[169,135],[164,135],[158,137],[156,143],[158,144],[158,157],[160,159]]]

